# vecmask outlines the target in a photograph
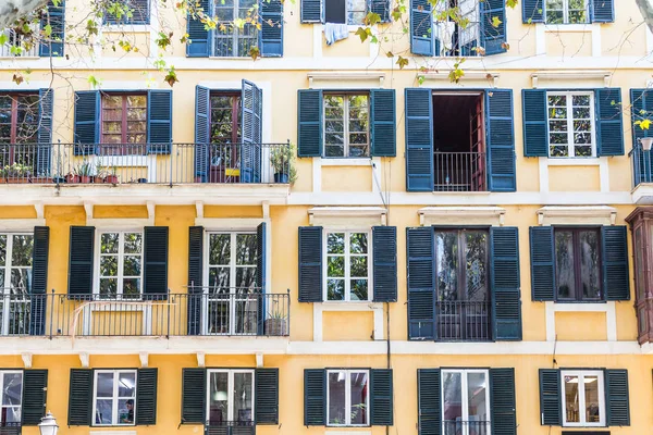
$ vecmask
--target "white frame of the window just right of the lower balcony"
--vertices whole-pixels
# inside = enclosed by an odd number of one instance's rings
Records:
[[[344,281],[345,281],[345,299],[343,300],[329,300],[329,234],[331,233],[344,233],[345,234],[345,252],[342,254],[345,259],[345,276],[344,276]],[[364,233],[367,235],[368,238],[368,252],[367,252],[367,258],[368,258],[368,298],[367,300],[352,300],[352,274],[350,274],[350,245],[349,245],[349,238],[352,233]],[[323,256],[323,261],[322,261],[322,270],[323,270],[323,282],[322,282],[322,300],[324,302],[329,302],[329,303],[343,303],[343,302],[350,302],[350,303],[368,303],[371,302],[372,300],[374,300],[373,298],[373,283],[372,283],[372,262],[373,260],[373,252],[372,252],[372,232],[369,228],[365,228],[365,229],[340,229],[340,228],[324,228],[323,231],[323,237],[322,237],[322,256]],[[340,256],[340,254],[336,254]],[[364,257],[364,254],[355,254],[356,257]],[[331,256],[334,257],[334,256]]]

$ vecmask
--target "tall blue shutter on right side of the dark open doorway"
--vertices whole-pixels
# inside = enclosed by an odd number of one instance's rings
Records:
[[[485,92],[485,137],[490,190],[515,191],[517,176],[512,89]]]

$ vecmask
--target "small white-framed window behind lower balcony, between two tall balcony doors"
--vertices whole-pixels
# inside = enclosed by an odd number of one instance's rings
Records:
[[[100,233],[99,294],[137,298],[143,283],[143,233]]]

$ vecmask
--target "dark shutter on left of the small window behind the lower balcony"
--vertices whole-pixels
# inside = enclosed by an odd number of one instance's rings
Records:
[[[69,295],[93,293],[95,226],[71,226]]]

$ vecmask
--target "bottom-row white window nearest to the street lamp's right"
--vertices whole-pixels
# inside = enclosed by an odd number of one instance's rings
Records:
[[[96,370],[94,382],[94,425],[134,425],[136,371]]]

